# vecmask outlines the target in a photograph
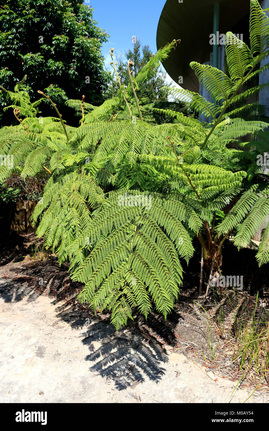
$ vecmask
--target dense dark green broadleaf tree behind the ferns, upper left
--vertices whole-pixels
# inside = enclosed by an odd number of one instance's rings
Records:
[[[94,105],[103,101],[108,73],[101,44],[108,34],[93,20],[94,9],[81,3],[6,0],[0,6],[0,85],[10,90],[26,74],[33,102],[45,88],[60,109],[78,94]],[[0,92],[0,104],[6,102]]]

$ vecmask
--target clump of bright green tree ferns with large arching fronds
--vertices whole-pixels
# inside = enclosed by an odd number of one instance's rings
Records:
[[[147,317],[154,304],[168,315],[194,237],[209,278],[214,266],[221,267],[225,240],[233,234],[234,244],[245,247],[269,213],[268,175],[255,164],[257,153],[268,150],[268,123],[238,118],[252,104],[234,108],[269,87],[242,92],[244,83],[269,66],[259,66],[269,55],[269,19],[257,0],[250,6],[250,48],[226,34],[229,76],[212,66],[190,65],[215,103],[175,91],[193,110],[212,116],[209,124],[152,106],[144,116],[136,91],[152,78],[173,42],[137,75],[129,60],[127,87],[118,77],[117,96],[86,114],[82,110],[80,127],[65,125],[57,111],[58,118],[44,118],[42,124],[28,117],[0,130],[1,153],[14,157],[13,169],[1,167],[0,180],[17,172],[23,178],[49,174],[34,214],[41,218],[38,236],[44,235],[60,263],[70,259],[72,278],[85,283],[79,300],[95,312],[111,310],[116,328],[132,319],[133,307]],[[152,110],[174,122],[156,125]],[[242,143],[250,133],[257,140]],[[269,227],[257,259],[259,265],[269,262]]]

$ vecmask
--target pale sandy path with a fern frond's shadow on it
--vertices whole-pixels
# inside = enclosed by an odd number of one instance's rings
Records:
[[[253,390],[217,378],[130,329],[0,279],[2,403],[243,403]],[[247,403],[267,403],[255,393]]]

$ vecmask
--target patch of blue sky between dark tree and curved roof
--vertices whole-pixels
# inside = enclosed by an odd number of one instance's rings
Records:
[[[86,5],[94,8],[93,19],[98,27],[110,34],[109,42],[103,45],[105,66],[110,70],[109,49],[116,53],[132,48],[132,37],[140,39],[142,45],[149,45],[153,53],[157,50],[156,33],[161,11],[166,0],[90,0]]]

